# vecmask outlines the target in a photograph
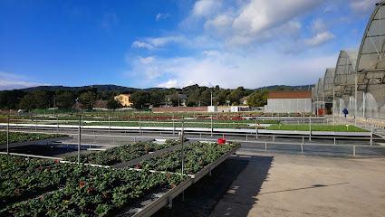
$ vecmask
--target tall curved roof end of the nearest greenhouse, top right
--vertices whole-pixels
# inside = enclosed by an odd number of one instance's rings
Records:
[[[385,1],[376,4],[363,34],[356,69],[385,71]]]

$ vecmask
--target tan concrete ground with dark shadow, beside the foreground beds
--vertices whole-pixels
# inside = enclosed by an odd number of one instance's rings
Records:
[[[249,164],[209,216],[385,216],[385,159],[238,151]]]

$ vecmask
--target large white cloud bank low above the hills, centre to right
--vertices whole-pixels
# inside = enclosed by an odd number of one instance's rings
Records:
[[[210,53],[210,52],[207,52]],[[149,64],[135,61],[130,77],[141,87],[181,88],[192,84],[223,88],[258,88],[274,84],[309,84],[318,80],[326,67],[335,65],[338,55],[287,57],[278,53],[243,55],[215,52],[200,57],[157,58]],[[274,58],[272,58],[274,56]],[[279,62],[279,64],[277,64]],[[272,67],[274,66],[274,67]],[[266,80],[266,78],[274,78]]]

